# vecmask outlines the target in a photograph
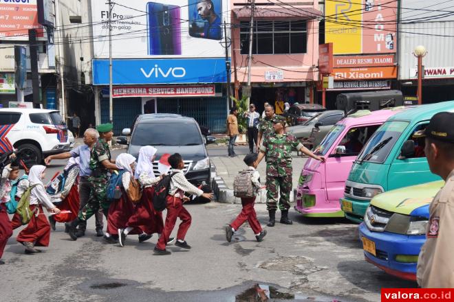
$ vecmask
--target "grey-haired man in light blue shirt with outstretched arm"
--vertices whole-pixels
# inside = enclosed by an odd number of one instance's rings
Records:
[[[49,165],[52,159],[69,159],[70,157],[79,157],[80,158],[80,181],[79,181],[79,200],[80,200],[80,207],[79,211],[81,211],[85,205],[87,205],[89,196],[90,196],[90,183],[88,181],[88,177],[91,175],[91,169],[89,167],[90,163],[90,150],[93,148],[94,143],[98,140],[99,134],[98,131],[94,130],[93,128],[88,128],[85,130],[83,135],[83,142],[82,146],[78,146],[69,152],[64,152],[61,154],[54,154],[47,156],[45,159],[45,164]],[[52,217],[52,216],[51,216]],[[96,236],[102,237],[104,233],[102,233],[102,209],[96,212]],[[78,231],[76,233],[77,237],[82,237],[85,235],[85,230],[87,229],[87,221],[83,220],[80,221]]]

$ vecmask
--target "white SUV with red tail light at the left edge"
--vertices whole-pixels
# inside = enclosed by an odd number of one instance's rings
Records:
[[[22,159],[41,163],[71,149],[60,113],[47,109],[0,108],[0,154],[19,150]]]

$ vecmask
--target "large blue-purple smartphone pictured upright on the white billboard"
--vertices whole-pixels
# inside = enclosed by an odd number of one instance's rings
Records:
[[[182,54],[180,6],[147,3],[148,54]]]

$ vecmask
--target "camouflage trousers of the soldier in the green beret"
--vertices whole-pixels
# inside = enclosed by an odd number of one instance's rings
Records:
[[[80,220],[88,220],[91,216],[96,214],[100,207],[107,217],[110,202],[107,202],[107,185],[109,185],[108,178],[89,178],[90,182],[90,196],[88,202],[80,210],[78,218]]]

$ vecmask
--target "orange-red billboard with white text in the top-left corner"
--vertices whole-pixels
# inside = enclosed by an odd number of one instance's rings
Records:
[[[0,39],[28,40],[28,30],[42,28],[38,23],[36,0],[0,1]],[[37,37],[43,37],[38,30]]]

